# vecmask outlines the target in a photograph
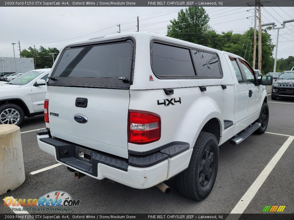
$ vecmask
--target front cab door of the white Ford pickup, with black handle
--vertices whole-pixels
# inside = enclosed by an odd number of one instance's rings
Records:
[[[240,64],[248,86],[247,126],[249,126],[259,117],[259,111],[262,105],[261,90],[264,88],[258,85],[256,75],[251,66],[245,60],[240,60]]]

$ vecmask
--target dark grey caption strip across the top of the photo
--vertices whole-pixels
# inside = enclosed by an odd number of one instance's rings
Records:
[[[291,7],[294,6],[293,0],[261,0],[262,7]],[[203,0],[203,1],[153,1],[153,0],[46,0],[46,1],[25,1],[25,0],[8,0],[0,1],[1,7],[189,7],[189,6],[206,6],[206,7],[239,7],[254,6],[254,0]]]

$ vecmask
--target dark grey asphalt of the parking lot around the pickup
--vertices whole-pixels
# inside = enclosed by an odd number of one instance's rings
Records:
[[[212,192],[202,202],[182,196],[174,179],[165,182],[172,189],[171,194],[166,195],[156,187],[139,190],[88,176],[77,180],[63,165],[32,175],[33,171],[57,163],[53,156],[39,149],[36,131],[21,134],[25,182],[0,198],[39,198],[51,191],[64,191],[81,201],[79,207],[73,207],[68,213],[230,213],[242,196],[248,194],[248,189],[260,178],[289,135],[294,136],[294,100],[271,100],[270,95],[268,97],[270,119],[267,132],[270,133],[253,134],[239,145],[227,141],[220,146],[217,179]],[[44,127],[43,116],[35,116],[25,119],[21,132]],[[294,141],[252,196],[244,213],[262,213],[266,205],[285,205],[283,213],[294,213],[293,158]],[[0,213],[13,214],[13,211],[0,205]]]

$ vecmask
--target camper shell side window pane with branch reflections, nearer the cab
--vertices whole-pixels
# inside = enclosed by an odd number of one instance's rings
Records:
[[[215,53],[192,50],[196,75],[221,77],[220,60]]]

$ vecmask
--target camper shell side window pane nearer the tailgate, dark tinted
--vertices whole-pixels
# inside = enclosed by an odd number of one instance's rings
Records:
[[[153,43],[153,71],[159,76],[195,76],[190,50]]]

